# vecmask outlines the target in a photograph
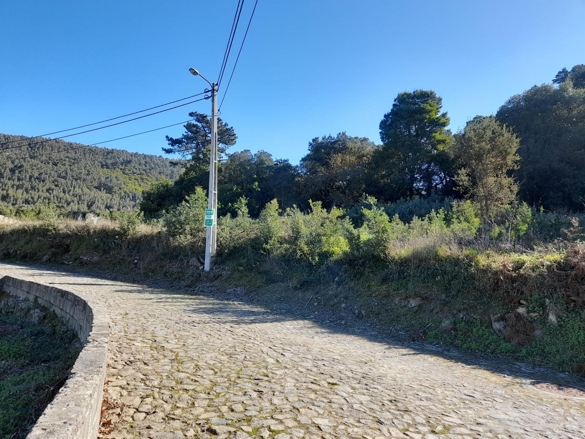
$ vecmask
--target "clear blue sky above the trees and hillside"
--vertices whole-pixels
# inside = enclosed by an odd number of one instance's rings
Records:
[[[229,70],[252,12],[245,0]],[[202,91],[236,1],[0,1],[0,132],[40,135]],[[259,0],[221,117],[234,150],[292,163],[315,136],[367,136],[398,92],[431,88],[456,131],[511,95],[585,63],[585,1]],[[228,72],[229,73],[229,72]],[[224,84],[227,84],[224,78]],[[186,120],[210,101],[68,140],[94,143]],[[162,154],[182,126],[108,143]]]

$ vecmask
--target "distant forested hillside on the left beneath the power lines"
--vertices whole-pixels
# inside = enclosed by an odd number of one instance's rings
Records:
[[[0,133],[0,144],[17,139],[27,138]],[[49,140],[6,150],[0,160],[0,208],[10,212],[52,202],[67,211],[130,210],[140,203],[144,189],[160,180],[174,180],[181,171],[163,157],[120,149],[88,146],[55,152],[78,146]],[[36,157],[2,161],[25,155]]]

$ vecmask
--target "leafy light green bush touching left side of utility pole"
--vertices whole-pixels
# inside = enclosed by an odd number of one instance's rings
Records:
[[[202,238],[205,231],[204,218],[208,200],[201,187],[185,197],[176,207],[170,208],[162,217],[162,224],[170,238]]]

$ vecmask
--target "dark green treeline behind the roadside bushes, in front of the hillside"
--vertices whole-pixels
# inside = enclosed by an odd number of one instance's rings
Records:
[[[196,187],[207,190],[211,126],[203,114],[190,116],[195,122],[185,125],[185,134],[177,139],[167,137],[168,148],[163,148],[189,159],[185,172],[173,183],[157,184],[144,194],[141,207],[147,217],[157,217],[181,203]],[[467,126],[479,119],[482,116]],[[535,85],[512,96],[498,109],[495,121],[511,128],[520,140],[519,161],[507,171],[517,182],[519,200],[546,210],[583,211],[585,64],[570,71],[563,68],[553,84]],[[415,90],[398,94],[383,116],[381,145],[345,132],[314,138],[298,166],[273,159],[264,151],[230,154],[219,169],[219,213],[235,214],[242,197],[256,217],[274,198],[281,208],[297,205],[305,209],[309,200],[321,201],[326,208],[350,207],[363,194],[384,202],[469,196],[457,190],[462,163],[468,168],[490,164],[473,165],[472,153],[456,148],[463,130],[450,132],[446,128],[449,122],[435,91]],[[233,128],[223,121],[218,134],[221,152],[235,144]],[[482,172],[470,170],[477,175]]]

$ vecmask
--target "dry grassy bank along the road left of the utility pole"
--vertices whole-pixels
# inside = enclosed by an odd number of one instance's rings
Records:
[[[39,221],[0,225],[0,256],[4,259],[97,267],[135,277],[190,280],[199,275],[201,240],[167,239],[159,227],[140,224],[123,236],[116,222],[96,224],[73,220],[50,227]]]

